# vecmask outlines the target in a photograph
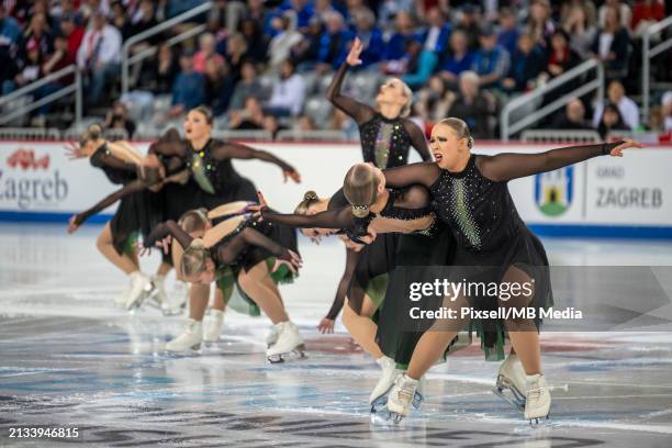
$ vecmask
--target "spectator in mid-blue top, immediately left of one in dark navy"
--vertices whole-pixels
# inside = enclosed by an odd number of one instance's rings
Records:
[[[481,87],[500,87],[501,80],[508,74],[511,56],[503,46],[497,45],[496,34],[490,25],[483,26],[479,42],[481,49],[473,56],[471,69],[479,76]]]

